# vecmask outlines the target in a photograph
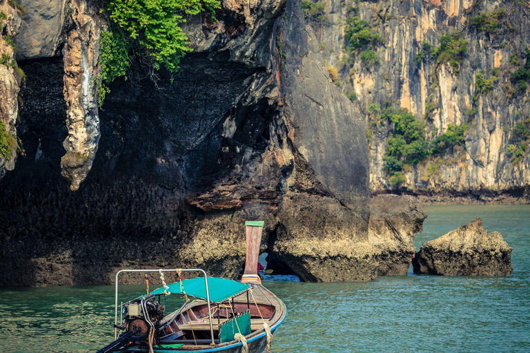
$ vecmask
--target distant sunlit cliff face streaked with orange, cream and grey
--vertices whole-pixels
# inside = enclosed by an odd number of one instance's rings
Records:
[[[508,146],[522,143],[513,133],[518,122],[530,117],[530,90],[520,90],[511,81],[511,72],[524,64],[522,52],[530,46],[530,4],[528,1],[322,1],[325,18],[312,25],[328,65],[340,70],[343,92],[357,95],[357,104],[370,123],[369,106],[406,108],[418,119],[426,119],[426,137],[435,139],[449,123],[469,123],[464,148],[447,152],[437,159],[404,172],[400,192],[470,196],[478,201],[511,201],[528,203],[530,193],[530,153],[512,163]],[[506,17],[495,32],[478,32],[471,17],[480,12],[506,9]],[[367,65],[359,52],[353,63],[344,50],[344,28],[350,17],[358,15],[381,34],[383,43],[374,50],[380,63]],[[459,32],[468,41],[468,54],[460,70],[435,59],[420,60],[416,54],[422,42],[433,48],[444,34]],[[516,54],[519,63],[510,57]],[[494,76],[493,90],[479,94],[475,74]],[[530,87],[530,85],[529,85]],[[473,97],[476,97],[473,101]],[[429,106],[431,105],[431,106]],[[432,110],[427,111],[426,110]],[[384,170],[391,124],[384,122],[370,141],[370,187],[374,193],[395,192]],[[528,143],[528,141],[527,141]],[[429,166],[431,169],[429,170]],[[429,197],[426,198],[429,200]]]

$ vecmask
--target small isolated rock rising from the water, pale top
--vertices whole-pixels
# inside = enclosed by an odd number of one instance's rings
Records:
[[[412,265],[417,274],[509,276],[511,250],[502,235],[485,230],[479,218],[424,243]]]

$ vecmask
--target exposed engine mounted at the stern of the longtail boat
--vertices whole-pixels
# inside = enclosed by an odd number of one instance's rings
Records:
[[[144,340],[164,317],[164,309],[154,296],[130,301],[124,305],[124,323],[120,328],[129,332],[137,329],[133,339]]]

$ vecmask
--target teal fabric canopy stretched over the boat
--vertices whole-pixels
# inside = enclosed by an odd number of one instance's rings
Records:
[[[179,294],[193,296],[197,299],[204,299],[206,301],[206,283],[204,277],[197,277],[196,279],[185,279],[182,281],[181,291],[180,282],[171,283],[168,285],[168,292],[170,294]],[[241,294],[251,288],[250,285],[232,281],[231,279],[219,279],[217,277],[208,277],[208,292],[210,293],[210,301],[213,303],[221,303],[230,299],[237,294]],[[150,292],[150,294],[164,294],[164,287],[157,288]]]

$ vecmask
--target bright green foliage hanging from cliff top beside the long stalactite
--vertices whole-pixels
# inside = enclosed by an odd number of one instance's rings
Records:
[[[192,51],[180,27],[186,15],[220,8],[218,0],[106,0],[101,12],[110,26],[101,40],[99,103],[110,92],[108,83],[123,77],[134,57],[152,70],[179,70],[180,59]]]

